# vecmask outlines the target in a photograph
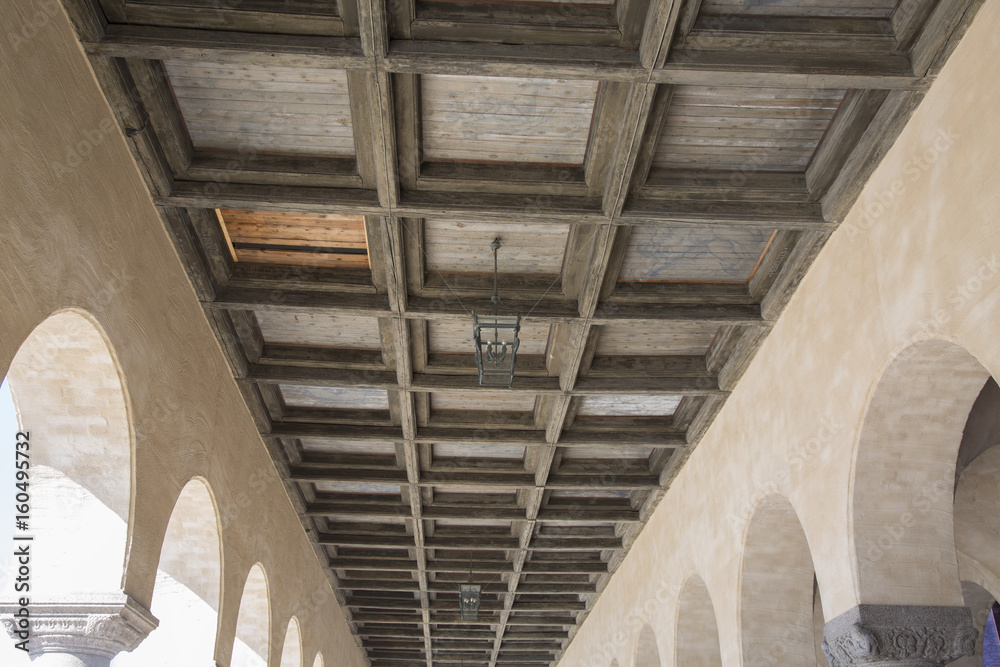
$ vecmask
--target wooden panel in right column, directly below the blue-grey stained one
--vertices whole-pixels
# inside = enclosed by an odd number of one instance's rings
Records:
[[[596,356],[674,356],[708,353],[719,332],[712,324],[663,324],[636,328],[620,324],[601,327]]]

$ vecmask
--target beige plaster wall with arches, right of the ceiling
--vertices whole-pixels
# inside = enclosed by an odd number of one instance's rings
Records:
[[[939,338],[1000,374],[998,53],[1000,0],[987,0],[560,664],[627,664],[645,622],[673,664],[691,573],[715,605],[722,664],[746,664],[741,544],[755,503],[775,493],[802,525],[825,618],[873,594],[893,601],[860,584],[854,462],[866,408],[900,351]],[[960,604],[953,579],[928,595]]]

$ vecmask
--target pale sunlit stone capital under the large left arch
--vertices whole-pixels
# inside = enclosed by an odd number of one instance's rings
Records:
[[[7,633],[25,642],[39,667],[109,667],[112,658],[135,649],[158,625],[145,607],[123,594],[29,600],[26,607],[5,602],[0,615]]]

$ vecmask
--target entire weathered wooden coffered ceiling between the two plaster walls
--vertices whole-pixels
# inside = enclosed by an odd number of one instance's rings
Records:
[[[64,1],[360,645],[427,667],[558,660],[980,4]]]

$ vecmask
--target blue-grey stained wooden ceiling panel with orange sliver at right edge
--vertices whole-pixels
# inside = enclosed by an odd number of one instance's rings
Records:
[[[744,283],[773,236],[764,229],[635,227],[618,279]]]

